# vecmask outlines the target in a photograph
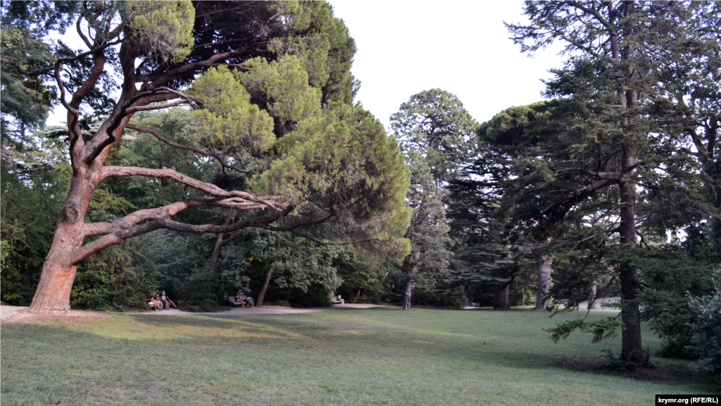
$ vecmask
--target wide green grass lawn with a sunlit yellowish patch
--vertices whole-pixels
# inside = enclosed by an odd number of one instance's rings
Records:
[[[0,404],[653,405],[654,394],[709,391],[550,367],[620,349],[584,334],[553,344],[541,329],[559,320],[377,308],[3,324]],[[644,334],[654,353],[658,339]]]

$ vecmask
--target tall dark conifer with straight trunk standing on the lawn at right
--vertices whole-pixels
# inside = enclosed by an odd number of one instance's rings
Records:
[[[673,176],[683,177],[688,169],[683,157],[659,155],[657,140],[651,136],[658,129],[647,119],[647,108],[658,95],[655,55],[689,40],[685,27],[697,7],[695,1],[526,0],[524,12],[531,23],[508,25],[522,51],[538,51],[560,41],[569,56],[567,69],[556,72],[548,91],[562,99],[556,111],[564,121],[565,140],[555,142],[552,148],[557,153],[547,157],[554,161],[552,173],[558,176],[541,189],[531,179],[526,185],[529,190],[534,185],[535,196],[554,195],[536,200],[536,221],[554,233],[568,230],[563,225],[570,217],[578,221],[584,212],[590,215],[587,210],[594,199],[603,196],[597,204],[609,209],[601,228],[618,233],[619,249],[626,253],[616,256],[611,265],[621,287],[622,357],[637,365],[642,365],[641,285],[634,253],[637,207],[646,197],[640,186],[654,193],[663,190],[650,200],[664,199],[684,189],[673,182]],[[663,168],[669,176],[660,179],[655,168]],[[564,182],[562,189],[552,189]],[[591,218],[590,223],[598,221]]]

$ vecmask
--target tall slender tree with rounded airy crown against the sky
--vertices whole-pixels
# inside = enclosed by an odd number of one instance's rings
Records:
[[[472,154],[473,126],[463,103],[440,89],[412,95],[391,116],[391,128],[411,170],[407,199],[414,210],[408,230],[412,254],[406,264],[404,308],[411,305],[419,272],[448,272],[451,239],[443,207],[445,188]]]

